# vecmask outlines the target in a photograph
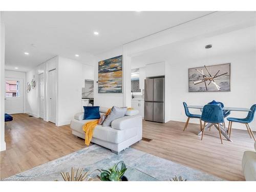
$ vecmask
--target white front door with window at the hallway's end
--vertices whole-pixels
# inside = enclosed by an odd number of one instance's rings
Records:
[[[5,78],[5,113],[23,113],[23,79]]]

